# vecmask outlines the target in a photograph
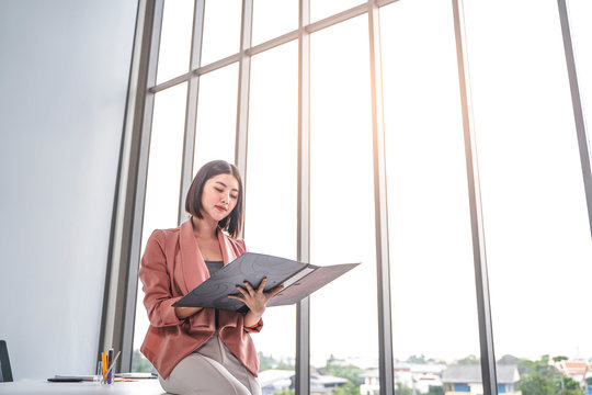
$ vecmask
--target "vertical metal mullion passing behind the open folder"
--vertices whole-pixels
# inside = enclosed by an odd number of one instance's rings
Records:
[[[310,0],[298,5],[298,230],[297,257],[310,259]],[[310,394],[310,300],[296,306],[296,395]]]

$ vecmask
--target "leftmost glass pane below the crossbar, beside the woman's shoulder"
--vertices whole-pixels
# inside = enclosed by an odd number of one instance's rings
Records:
[[[155,97],[141,230],[143,253],[152,230],[178,225],[186,97],[186,83],[163,90]],[[132,358],[133,372],[152,371],[150,362],[139,352],[144,337],[148,331],[148,325],[141,282],[138,282],[134,354]]]

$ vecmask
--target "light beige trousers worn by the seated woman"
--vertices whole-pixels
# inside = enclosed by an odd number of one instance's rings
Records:
[[[217,334],[181,360],[160,385],[170,394],[261,395],[259,381],[240,363]]]

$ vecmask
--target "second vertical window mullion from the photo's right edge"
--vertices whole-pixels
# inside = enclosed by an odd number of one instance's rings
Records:
[[[481,191],[477,146],[470,101],[470,80],[465,44],[465,21],[463,0],[453,0],[454,31],[456,38],[456,59],[458,64],[458,81],[463,111],[463,133],[465,138],[465,158],[467,165],[467,183],[470,206],[470,225],[473,235],[473,256],[475,263],[475,284],[477,292],[477,313],[479,317],[479,342],[481,350],[481,379],[483,394],[497,395],[498,381],[496,356],[493,349],[493,329],[491,324],[491,306],[489,301],[489,280],[487,255],[481,210]]]

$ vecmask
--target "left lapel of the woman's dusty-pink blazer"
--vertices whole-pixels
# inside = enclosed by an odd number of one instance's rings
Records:
[[[186,286],[184,293],[186,294],[209,278],[209,272],[207,271],[204,258],[202,257],[202,252],[200,252],[200,248],[197,247],[197,241],[193,236],[191,218],[181,224],[179,245],[181,267],[183,268],[183,281]]]

